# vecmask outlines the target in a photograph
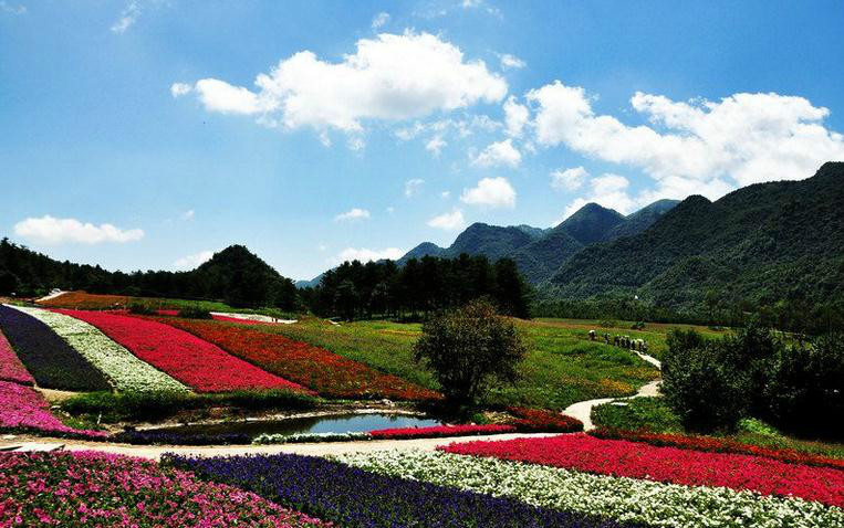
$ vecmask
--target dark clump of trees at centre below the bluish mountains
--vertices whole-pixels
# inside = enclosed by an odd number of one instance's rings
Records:
[[[347,320],[425,318],[482,297],[502,314],[527,318],[531,289],[512,260],[491,263],[486,256],[462,254],[410,258],[404,266],[393,261],[344,262],[300,295],[314,314]]]

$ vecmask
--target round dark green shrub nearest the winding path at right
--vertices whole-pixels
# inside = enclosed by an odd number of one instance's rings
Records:
[[[699,432],[733,430],[748,410],[747,374],[728,361],[723,341],[674,330],[663,359],[666,401],[683,424]]]

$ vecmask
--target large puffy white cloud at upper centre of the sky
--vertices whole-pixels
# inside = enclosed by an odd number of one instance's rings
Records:
[[[360,131],[366,119],[403,120],[498,103],[507,82],[482,61],[429,33],[382,33],[357,41],[338,63],[302,51],[256,78],[257,91],[206,78],[195,89],[210,112],[259,115],[289,129]]]

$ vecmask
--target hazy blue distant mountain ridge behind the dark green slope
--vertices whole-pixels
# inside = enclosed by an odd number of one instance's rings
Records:
[[[492,261],[510,257],[529,282],[540,284],[586,245],[637,234],[677,203],[677,200],[659,200],[629,217],[597,203],[587,203],[551,229],[478,222],[460,233],[450,246],[423,242],[397,263],[404,265],[410,258],[424,256],[454,258],[461,253],[484,255]]]

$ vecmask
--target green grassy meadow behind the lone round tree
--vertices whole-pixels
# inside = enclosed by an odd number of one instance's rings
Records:
[[[528,345],[522,379],[489,394],[484,403],[562,410],[581,400],[633,394],[658,372],[634,353],[588,341],[583,321],[517,321]],[[261,326],[261,331],[282,334],[430,389],[438,389],[429,372],[413,360],[413,345],[421,325],[356,321],[331,325],[306,318],[295,325]],[[608,330],[607,330],[608,331]],[[665,345],[667,327],[638,331],[656,347]],[[632,332],[625,335],[633,336]],[[660,345],[661,344],[661,345]]]

